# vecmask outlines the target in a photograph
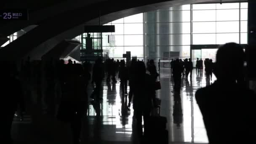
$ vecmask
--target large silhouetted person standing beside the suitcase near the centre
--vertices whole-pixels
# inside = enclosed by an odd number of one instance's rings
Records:
[[[143,135],[142,116],[144,120],[144,135],[150,127],[148,120],[152,108],[152,101],[155,99],[155,80],[153,76],[146,74],[146,67],[142,61],[137,61],[135,73],[133,109],[137,120],[137,131],[139,137],[141,137]]]

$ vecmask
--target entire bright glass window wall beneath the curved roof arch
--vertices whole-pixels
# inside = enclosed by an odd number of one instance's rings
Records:
[[[105,24],[115,25],[115,32],[102,34],[102,46],[111,58],[121,58],[126,51],[146,59],[169,51],[190,57],[191,45],[247,44],[247,17],[248,3],[191,4],[139,13]]]

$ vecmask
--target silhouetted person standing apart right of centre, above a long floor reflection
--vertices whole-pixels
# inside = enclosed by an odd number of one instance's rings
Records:
[[[179,59],[176,59],[176,61],[173,64],[174,91],[176,91],[176,92],[179,92],[180,88],[181,88],[182,70],[183,70],[182,64],[180,64]]]

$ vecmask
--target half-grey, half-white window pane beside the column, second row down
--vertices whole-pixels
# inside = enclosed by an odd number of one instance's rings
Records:
[[[190,11],[170,11],[170,22],[189,22]]]

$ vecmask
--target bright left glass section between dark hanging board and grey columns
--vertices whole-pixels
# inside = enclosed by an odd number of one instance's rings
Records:
[[[131,56],[143,57],[143,13],[112,21],[105,25],[115,25],[115,32],[103,33],[103,49],[109,57],[122,58],[131,51]]]

